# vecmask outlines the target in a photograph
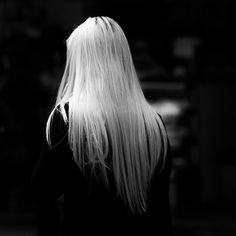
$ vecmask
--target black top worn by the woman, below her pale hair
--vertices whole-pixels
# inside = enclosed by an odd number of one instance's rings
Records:
[[[32,177],[33,190],[41,205],[53,205],[64,195],[63,235],[135,235],[141,232],[171,235],[169,148],[164,168],[161,172],[157,168],[153,176],[147,212],[132,214],[116,193],[112,172],[108,173],[110,188],[106,188],[99,181],[99,175],[94,177],[89,169],[86,175],[80,171],[72,158],[67,128],[60,112],[56,111],[51,131],[54,146],[50,148],[45,139]]]

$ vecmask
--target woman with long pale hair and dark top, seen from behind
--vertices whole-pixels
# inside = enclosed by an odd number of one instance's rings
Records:
[[[33,184],[47,203],[64,195],[65,235],[171,234],[167,134],[111,18],[88,18],[68,38],[46,137]]]

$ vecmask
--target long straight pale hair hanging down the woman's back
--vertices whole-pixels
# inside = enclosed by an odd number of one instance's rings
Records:
[[[85,165],[96,164],[107,184],[107,170],[112,170],[118,194],[132,212],[143,213],[155,167],[166,154],[167,136],[143,95],[125,34],[109,17],[89,17],[66,42],[65,71],[47,122],[48,143],[51,118],[59,107],[77,165],[84,171]]]

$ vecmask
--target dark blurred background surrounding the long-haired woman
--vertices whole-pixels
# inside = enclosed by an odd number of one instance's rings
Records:
[[[123,28],[144,94],[165,121],[174,236],[236,235],[230,0],[0,0],[0,235],[42,235],[30,176],[64,70],[65,40],[97,15]]]

